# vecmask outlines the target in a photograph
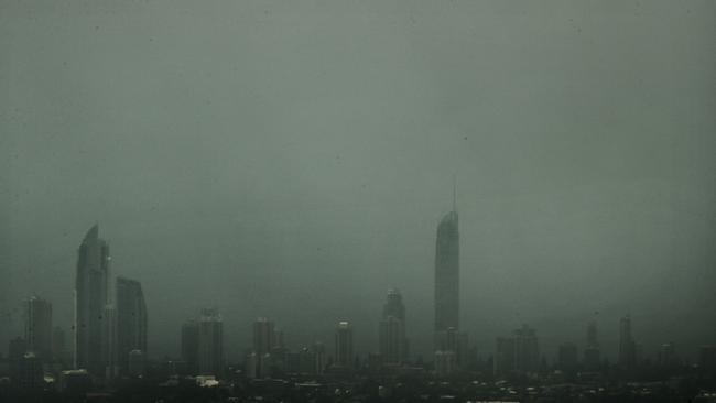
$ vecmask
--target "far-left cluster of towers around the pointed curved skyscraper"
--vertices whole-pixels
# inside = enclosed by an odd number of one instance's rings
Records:
[[[10,342],[11,378],[41,383],[44,372],[111,379],[141,374],[147,356],[147,304],[141,284],[110,275],[109,244],[91,227],[77,251],[73,337],[53,327],[52,303],[25,303],[25,337]],[[74,370],[63,371],[67,368]],[[63,378],[61,377],[61,381]]]

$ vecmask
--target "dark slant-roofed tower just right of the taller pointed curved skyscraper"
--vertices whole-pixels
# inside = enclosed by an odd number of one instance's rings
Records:
[[[138,281],[117,277],[117,353],[121,372],[129,369],[129,353],[134,350],[147,356],[144,294]]]

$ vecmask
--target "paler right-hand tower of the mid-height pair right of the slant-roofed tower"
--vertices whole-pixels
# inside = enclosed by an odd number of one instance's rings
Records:
[[[224,369],[224,320],[216,309],[202,309],[198,347],[199,373],[221,375]]]

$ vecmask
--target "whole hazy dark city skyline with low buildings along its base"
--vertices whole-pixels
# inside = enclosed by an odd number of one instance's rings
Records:
[[[321,339],[297,348],[286,345],[284,331],[272,319],[258,316],[251,327],[252,348],[246,351],[242,360],[234,361],[225,352],[225,346],[230,346],[234,340],[226,339],[224,317],[216,306],[211,306],[202,308],[198,316],[181,325],[178,355],[156,360],[148,353],[147,335],[151,327],[141,283],[110,275],[109,244],[99,238],[98,224],[95,224],[77,253],[73,364],[66,364],[53,352],[54,346],[62,345],[63,337],[55,335],[59,330],[52,330],[52,304],[33,295],[25,301],[25,338],[13,339],[8,346],[8,358],[0,357],[0,363],[6,368],[0,372],[6,377],[0,393],[17,396],[14,399],[44,393],[67,400],[89,396],[95,391],[108,397],[130,393],[151,400],[158,394],[177,396],[178,393],[181,396],[200,389],[216,389],[223,391],[225,401],[236,401],[236,396],[247,394],[261,396],[260,400],[263,395],[279,393],[294,397],[302,393],[315,397],[322,393],[327,397],[333,391],[333,399],[343,401],[341,395],[362,391],[361,401],[373,401],[376,396],[390,399],[393,393],[399,393],[395,391],[404,390],[404,381],[419,382],[406,392],[400,392],[412,396],[425,388],[431,390],[435,381],[441,381],[443,391],[440,393],[452,389],[456,393],[462,390],[459,393],[463,394],[511,399],[518,395],[529,399],[536,395],[584,397],[581,391],[587,389],[592,391],[589,394],[608,395],[616,401],[633,395],[634,391],[672,399],[676,395],[709,395],[699,388],[713,385],[716,346],[699,346],[698,360],[694,364],[673,341],[661,344],[655,355],[644,353],[638,336],[632,333],[630,314],[619,319],[616,363],[600,360],[597,312],[586,323],[584,360],[579,359],[581,347],[572,341],[560,344],[556,357],[547,359],[540,348],[538,329],[528,324],[512,330],[510,336],[496,337],[495,353],[480,356],[478,347],[469,344],[467,333],[462,331],[457,323],[458,240],[454,189],[453,210],[437,228],[436,327],[432,360],[424,361],[422,355],[410,357],[406,306],[401,292],[394,287],[387,291],[382,309],[376,315],[379,318],[378,346],[368,355],[355,350],[355,327],[348,318],[335,326],[332,356],[326,355]],[[116,282],[113,294],[108,290],[112,279]],[[445,292],[457,295],[445,298],[446,295],[441,295]],[[102,302],[99,296],[104,297],[104,307],[94,318],[87,313],[93,315],[98,311],[97,305]],[[445,301],[453,303],[446,304]],[[94,326],[98,329],[93,331]],[[58,351],[63,349],[57,348]],[[95,356],[97,351],[99,357]],[[469,384],[479,388],[465,390],[466,379],[475,379]],[[669,382],[654,382],[660,379],[669,379]],[[675,381],[679,383],[673,383]],[[540,388],[528,388],[530,384]],[[595,384],[601,385],[598,393]],[[288,385],[292,386],[286,389]]]

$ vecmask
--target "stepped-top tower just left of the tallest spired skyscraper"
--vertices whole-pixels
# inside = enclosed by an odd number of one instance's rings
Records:
[[[405,307],[400,291],[395,288],[388,290],[378,340],[383,362],[401,363],[408,359]]]

